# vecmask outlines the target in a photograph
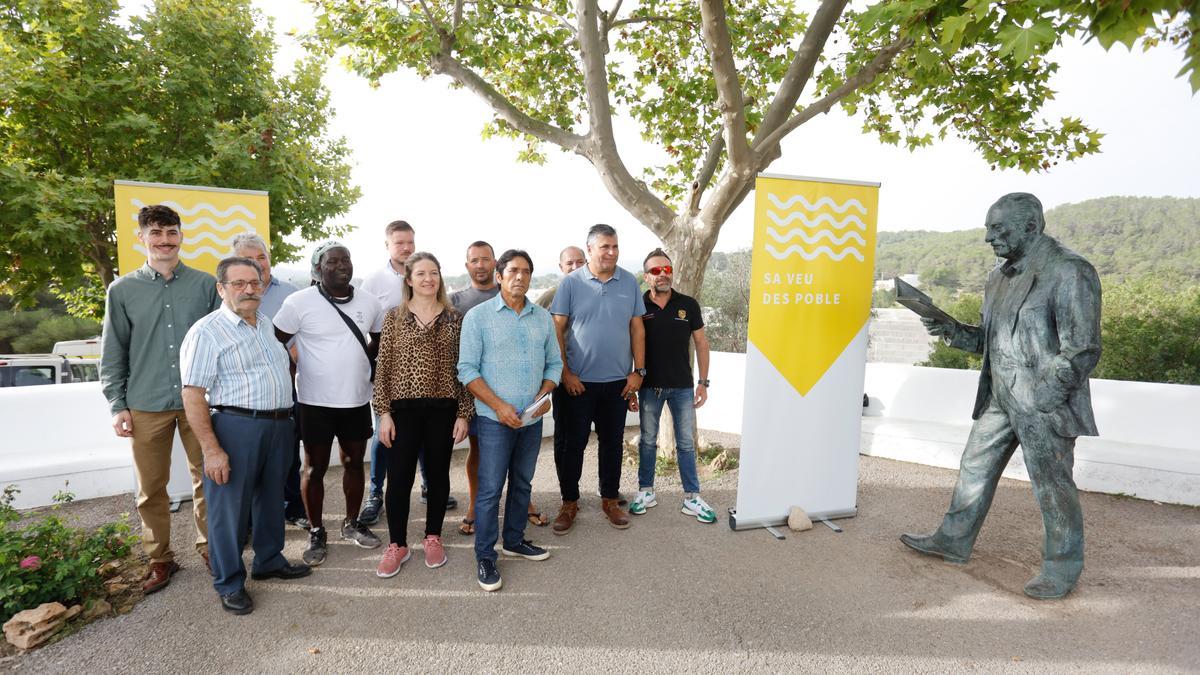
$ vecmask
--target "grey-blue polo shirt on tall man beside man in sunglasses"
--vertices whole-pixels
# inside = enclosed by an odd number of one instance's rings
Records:
[[[629,322],[646,313],[637,277],[617,268],[601,282],[582,267],[563,277],[550,305],[566,316],[566,366],[583,382],[624,380],[634,368]]]

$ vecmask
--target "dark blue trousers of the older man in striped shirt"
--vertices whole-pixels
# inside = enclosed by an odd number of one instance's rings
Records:
[[[229,480],[217,485],[204,477],[209,507],[209,560],[212,586],[227,596],[246,584],[241,561],[251,514],[254,531],[254,572],[271,572],[283,558],[283,471],[290,462],[295,437],[290,419],[253,419],[218,412],[212,431],[229,455]]]

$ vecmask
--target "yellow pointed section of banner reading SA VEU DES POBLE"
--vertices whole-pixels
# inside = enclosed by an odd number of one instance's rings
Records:
[[[880,186],[760,175],[749,339],[803,396],[871,311]]]

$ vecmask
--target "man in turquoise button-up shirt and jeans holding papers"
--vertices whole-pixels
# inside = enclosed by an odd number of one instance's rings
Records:
[[[500,294],[478,305],[462,322],[458,380],[475,396],[479,435],[479,495],[475,500],[475,560],[479,585],[500,589],[496,567],[500,492],[508,556],[546,560],[550,552],[524,538],[530,485],[541,448],[541,417],[563,370],[550,313],[526,300],[533,277],[529,253],[508,250],[496,261]],[[546,398],[545,402],[530,406]]]

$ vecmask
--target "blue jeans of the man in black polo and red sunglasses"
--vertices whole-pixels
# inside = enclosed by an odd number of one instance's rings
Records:
[[[659,449],[659,419],[662,404],[671,408],[676,428],[676,458],[684,492],[698,492],[696,477],[696,399],[690,387],[642,388],[638,394],[642,437],[637,442],[637,485],[642,490],[654,488],[654,462]]]

